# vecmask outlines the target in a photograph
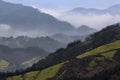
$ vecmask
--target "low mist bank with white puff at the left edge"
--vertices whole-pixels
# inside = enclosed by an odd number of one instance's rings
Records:
[[[45,32],[39,32],[39,30],[30,30],[30,31],[23,31],[23,30],[16,30],[13,29],[8,24],[0,24],[0,37],[10,37],[10,36],[30,36],[30,37],[37,37],[37,36],[44,36],[46,35]]]

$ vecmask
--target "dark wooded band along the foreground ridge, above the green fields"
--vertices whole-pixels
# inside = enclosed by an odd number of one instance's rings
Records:
[[[37,69],[42,70],[60,62],[74,59],[78,54],[83,54],[84,52],[93,50],[99,46],[120,40],[119,34],[119,24],[108,26],[107,28],[96,32],[95,34],[92,34],[84,42],[76,41],[70,43],[67,48],[56,50],[56,52],[48,55],[45,59],[40,60],[37,64],[34,64],[31,69],[28,69],[28,71]]]

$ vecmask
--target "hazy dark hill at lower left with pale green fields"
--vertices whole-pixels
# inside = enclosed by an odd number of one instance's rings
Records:
[[[0,61],[2,61],[0,64],[1,66],[4,65],[0,71],[12,71],[30,67],[47,55],[48,52],[39,47],[9,48],[0,45]]]

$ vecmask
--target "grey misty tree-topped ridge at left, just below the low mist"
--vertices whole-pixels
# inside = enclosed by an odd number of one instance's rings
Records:
[[[64,48],[65,43],[54,40],[50,37],[31,38],[27,36],[0,37],[0,45],[6,45],[10,48],[39,47],[48,52],[54,52],[58,48]]]

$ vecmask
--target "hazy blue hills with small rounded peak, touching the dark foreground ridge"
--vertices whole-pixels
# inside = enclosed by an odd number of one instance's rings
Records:
[[[86,37],[88,37],[90,34],[93,34],[94,32],[97,32],[97,30],[86,25],[82,25],[75,29],[73,33],[74,35],[55,34],[51,37],[63,43],[70,43],[77,40],[84,41]]]

